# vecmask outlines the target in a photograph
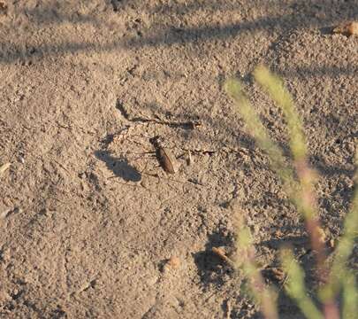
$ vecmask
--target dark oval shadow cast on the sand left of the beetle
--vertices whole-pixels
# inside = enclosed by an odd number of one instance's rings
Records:
[[[102,160],[115,176],[121,177],[126,182],[141,181],[141,173],[129,165],[126,159],[115,158],[108,151],[96,151],[95,157]]]

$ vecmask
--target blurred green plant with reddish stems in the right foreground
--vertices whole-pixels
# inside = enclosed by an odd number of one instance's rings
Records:
[[[270,159],[270,166],[275,171],[289,198],[292,199],[298,212],[303,216],[308,230],[311,245],[316,253],[316,263],[319,269],[319,281],[323,282],[318,296],[322,302],[320,310],[309,297],[305,286],[305,273],[299,261],[294,258],[292,250],[281,249],[282,267],[286,272],[285,289],[287,294],[295,300],[302,314],[307,318],[334,318],[340,314],[343,318],[354,318],[358,311],[358,292],[355,286],[355,276],[347,268],[347,260],[354,248],[354,239],[358,233],[358,174],[354,176],[355,193],[353,205],[347,213],[343,235],[334,254],[334,260],[330,269],[327,269],[324,253],[324,230],[319,225],[315,183],[316,172],[308,165],[308,147],[303,133],[303,125],[300,114],[296,111],[293,97],[285,88],[283,81],[272,74],[265,66],[257,66],[254,71],[255,81],[281,108],[290,140],[290,150],[293,154],[293,163],[289,165],[278,147],[264,128],[262,121],[255,113],[243,90],[243,84],[237,79],[230,79],[225,83],[227,94],[232,97],[234,105],[245,121],[249,133],[255,137],[255,141]],[[355,164],[358,167],[358,150],[355,154]],[[294,167],[294,168],[293,168]],[[240,223],[236,238],[237,256],[245,258],[244,261],[236,261],[237,269],[243,271],[248,278],[248,284],[255,302],[261,307],[265,318],[278,318],[276,292],[274,288],[263,284],[260,268],[255,263],[255,247],[251,241],[251,234],[244,222]],[[328,275],[327,275],[328,274]],[[341,308],[338,297],[342,296]]]

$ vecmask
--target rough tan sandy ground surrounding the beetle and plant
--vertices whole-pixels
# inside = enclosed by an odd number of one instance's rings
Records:
[[[210,253],[232,245],[238,212],[268,282],[280,285],[282,243],[312,265],[300,217],[223,89],[239,76],[287,150],[282,114],[251,76],[259,63],[293,93],[321,174],[324,230],[339,236],[353,191],[358,36],[331,27],[357,19],[357,1],[6,3],[1,318],[256,317],[242,276]],[[158,166],[153,136],[176,174]],[[176,268],[165,266],[172,256]],[[279,307],[302,317],[284,295]]]

